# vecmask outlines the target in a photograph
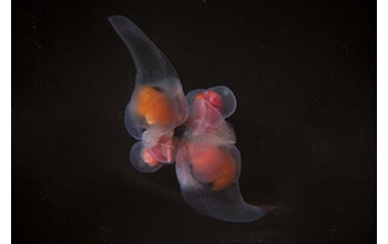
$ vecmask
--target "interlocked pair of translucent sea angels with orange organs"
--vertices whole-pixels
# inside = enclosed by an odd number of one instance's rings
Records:
[[[197,89],[185,96],[169,59],[131,20],[109,21],[129,49],[136,69],[135,89],[125,109],[125,128],[136,140],[133,167],[152,173],[175,162],[184,200],[195,211],[227,222],[252,222],[272,206],[246,203],[239,192],[241,156],[226,122],[236,98],[226,87]],[[184,128],[182,136],[174,134]]]

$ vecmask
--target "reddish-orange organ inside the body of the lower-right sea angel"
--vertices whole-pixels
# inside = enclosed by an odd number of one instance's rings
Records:
[[[235,162],[227,151],[214,145],[191,146],[190,157],[200,181],[213,183],[214,191],[225,189],[236,171]]]

